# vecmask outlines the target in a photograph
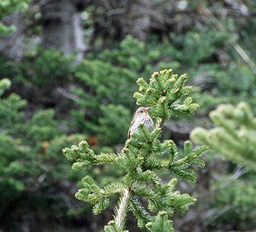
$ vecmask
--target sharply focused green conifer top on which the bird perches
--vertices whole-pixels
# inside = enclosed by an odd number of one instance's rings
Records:
[[[104,187],[99,187],[93,178],[86,176],[82,179],[83,187],[75,194],[80,201],[94,206],[95,215],[109,207],[112,196],[120,196],[114,220],[109,221],[105,231],[128,231],[125,229],[128,211],[133,212],[139,228],[153,232],[174,231],[169,217],[175,213],[183,214],[196,203],[196,199],[176,191],[176,178],[163,182],[159,172],[169,171],[177,178],[195,182],[196,173],[191,166],[205,165],[200,156],[207,147],[194,149],[191,141],[186,141],[181,158],[172,140],[161,142],[162,125],[171,116],[192,115],[199,105],[193,103],[191,97],[186,97],[191,92],[191,87],[185,86],[186,74],[178,76],[171,69],[165,69],[153,73],[149,83],[143,78],[137,83],[139,90],[133,96],[138,105],[150,107],[150,115],[155,120],[152,131],[141,125],[120,154],[94,154],[86,141],[63,149],[63,153],[73,162],[75,170],[106,164],[117,164],[124,170],[125,176],[120,182]]]

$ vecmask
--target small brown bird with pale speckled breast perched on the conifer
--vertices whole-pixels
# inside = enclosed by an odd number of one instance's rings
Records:
[[[130,128],[128,130],[128,139],[131,138],[133,133],[138,132],[139,125],[145,125],[149,130],[153,129],[154,122],[152,118],[148,115],[148,107],[139,107],[133,116],[133,121],[131,122]]]

